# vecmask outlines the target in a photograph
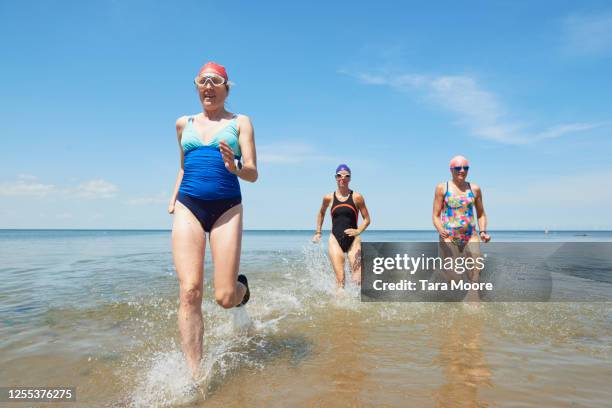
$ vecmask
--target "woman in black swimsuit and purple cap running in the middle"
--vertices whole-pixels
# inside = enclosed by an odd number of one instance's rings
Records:
[[[349,189],[351,169],[341,164],[336,169],[337,187],[333,193],[323,197],[321,210],[317,217],[317,229],[313,242],[321,239],[321,228],[325,212],[331,205],[332,233],[329,236],[328,253],[338,288],[344,287],[344,254],[348,254],[353,282],[361,284],[361,234],[370,225],[370,215],[361,194]],[[357,225],[359,213],[363,218]]]

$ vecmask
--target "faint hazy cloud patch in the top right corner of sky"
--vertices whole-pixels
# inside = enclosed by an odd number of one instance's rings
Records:
[[[612,50],[612,12],[572,15],[563,25],[565,48],[570,54],[596,55]]]

